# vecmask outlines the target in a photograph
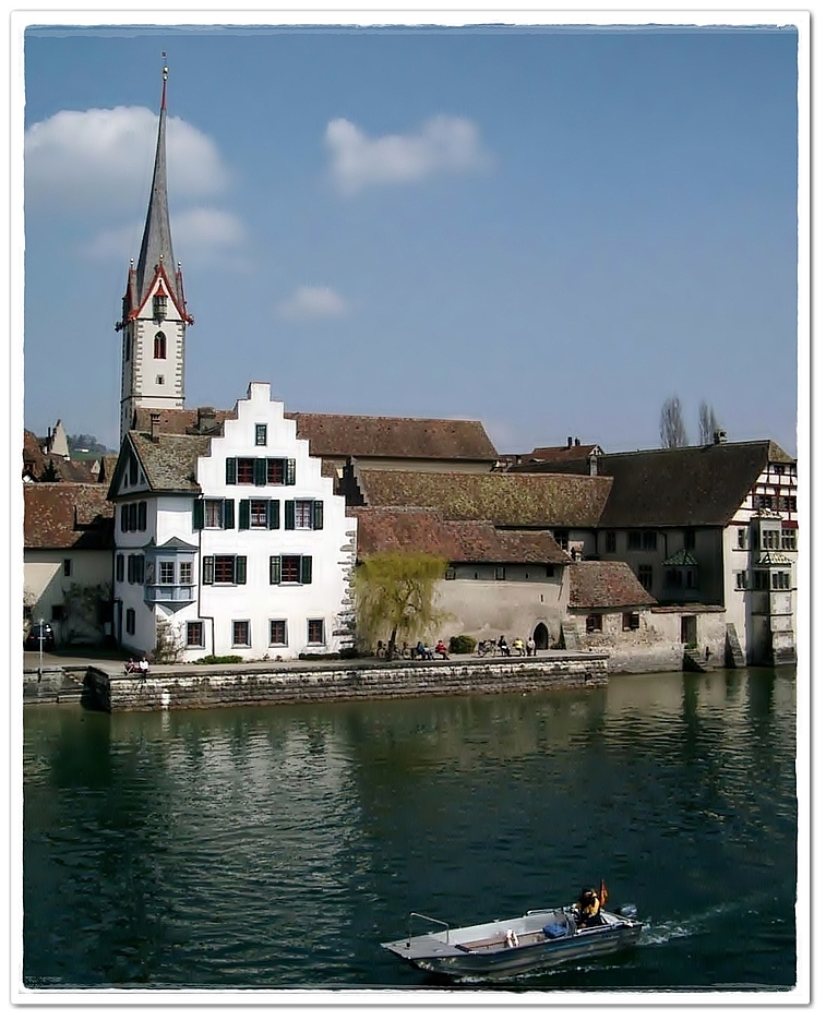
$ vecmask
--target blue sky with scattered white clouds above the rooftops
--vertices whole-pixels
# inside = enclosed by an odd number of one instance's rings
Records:
[[[187,404],[797,451],[797,33],[29,29],[25,425],[115,446],[160,52]]]

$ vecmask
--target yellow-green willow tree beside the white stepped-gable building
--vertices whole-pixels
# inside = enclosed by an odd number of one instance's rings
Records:
[[[354,578],[359,634],[371,644],[390,634],[387,658],[396,641],[421,637],[442,623],[436,585],[447,561],[423,552],[376,552],[364,556]]]

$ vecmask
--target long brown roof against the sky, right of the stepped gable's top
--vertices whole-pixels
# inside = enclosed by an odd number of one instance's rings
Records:
[[[384,457],[427,460],[490,460],[496,451],[480,421],[309,415],[291,411],[314,457]]]

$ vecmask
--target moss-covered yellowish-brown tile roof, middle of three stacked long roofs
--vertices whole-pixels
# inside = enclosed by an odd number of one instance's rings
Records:
[[[610,478],[573,475],[465,475],[458,471],[379,471],[356,466],[368,506],[429,507],[448,519],[500,527],[592,528]]]

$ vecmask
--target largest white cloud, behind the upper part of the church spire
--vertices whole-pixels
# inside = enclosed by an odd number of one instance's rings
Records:
[[[26,202],[68,212],[134,206],[148,195],[157,115],[144,107],[61,110],[26,131]],[[229,171],[215,143],[179,117],[167,121],[172,200],[226,188]]]

